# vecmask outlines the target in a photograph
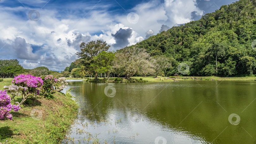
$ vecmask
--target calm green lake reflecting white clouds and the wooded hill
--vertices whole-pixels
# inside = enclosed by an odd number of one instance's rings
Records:
[[[80,105],[62,143],[256,143],[256,81],[69,81]]]

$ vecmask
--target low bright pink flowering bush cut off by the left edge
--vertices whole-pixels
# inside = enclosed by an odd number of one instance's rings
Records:
[[[10,111],[19,111],[21,107],[19,105],[11,105],[10,96],[6,93],[6,90],[0,91],[0,119],[8,118],[12,120]]]

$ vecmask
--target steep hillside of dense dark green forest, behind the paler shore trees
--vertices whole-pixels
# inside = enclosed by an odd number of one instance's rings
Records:
[[[151,56],[169,57],[172,67],[166,69],[167,75],[179,73],[180,63],[189,65],[187,75],[252,75],[256,73],[255,17],[256,1],[240,0],[136,46]]]

